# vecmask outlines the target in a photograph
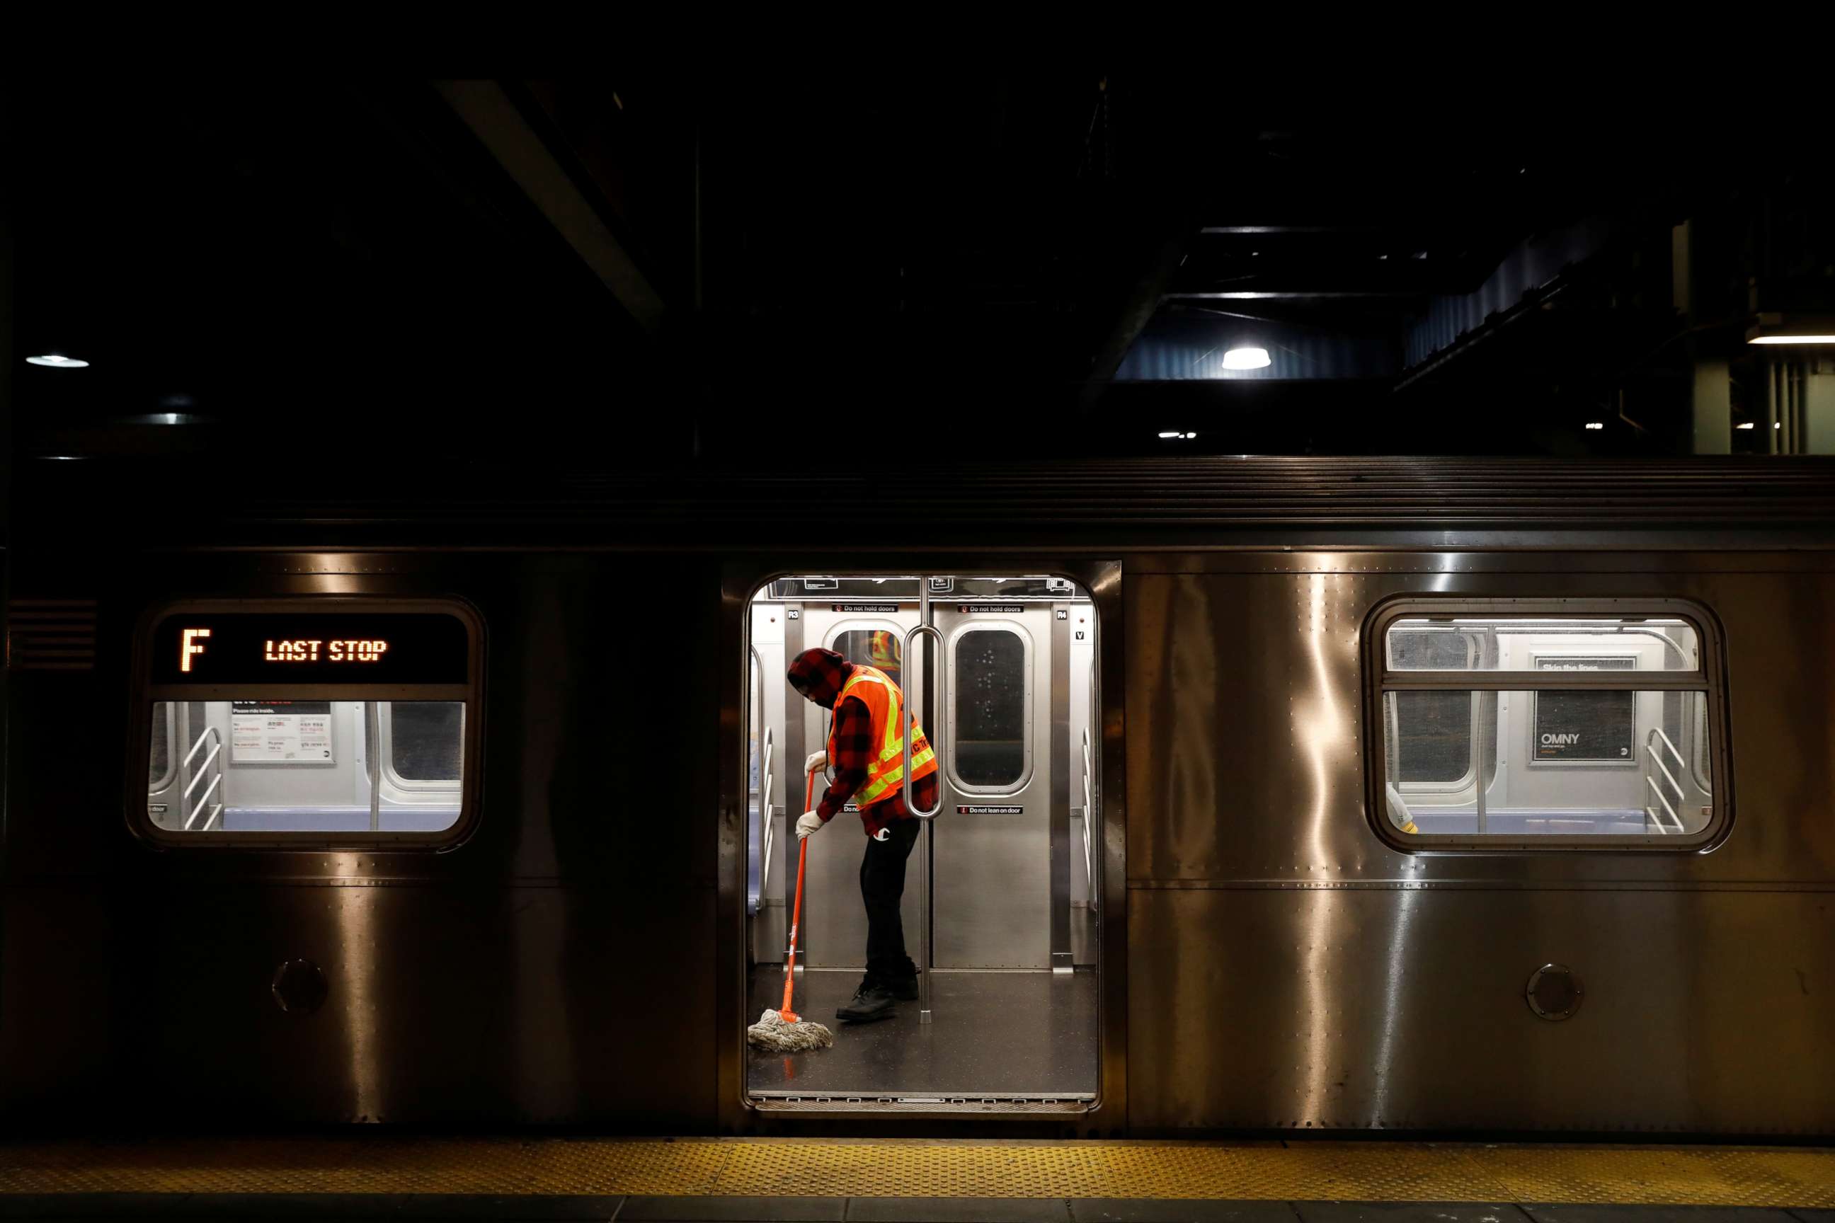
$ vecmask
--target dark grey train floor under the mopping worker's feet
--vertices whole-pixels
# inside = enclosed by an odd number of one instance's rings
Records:
[[[829,1049],[751,1051],[754,1096],[1094,1098],[1097,979],[1094,972],[934,972],[930,1023],[918,1003],[873,1023],[840,1023],[859,972],[796,977],[796,1012],[835,1034]],[[747,1019],[784,1001],[782,964],[752,970]]]

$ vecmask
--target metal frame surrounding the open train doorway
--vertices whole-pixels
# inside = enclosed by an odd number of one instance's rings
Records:
[[[751,600],[767,581],[796,574],[881,576],[894,572],[996,576],[1050,574],[1075,581],[1090,594],[1094,607],[1095,680],[1092,724],[1099,728],[1097,772],[1101,788],[1101,926],[1099,926],[1099,999],[1097,999],[1097,1091],[1088,1109],[1077,1113],[1029,1111],[1024,1107],[973,1106],[910,1107],[895,1111],[835,1102],[807,1111],[762,1111],[747,1093],[745,1025],[756,1016],[747,1005],[747,741],[745,710],[751,700]],[[717,836],[717,909],[716,946],[716,1065],[719,1122],[727,1131],[754,1133],[859,1133],[861,1120],[890,1128],[921,1128],[925,1122],[967,1115],[998,1122],[1009,1133],[1048,1133],[1057,1137],[1094,1137],[1127,1128],[1127,739],[1125,739],[1125,625],[1123,567],[1119,559],[1092,559],[1035,554],[1024,561],[989,567],[985,556],[762,556],[728,561],[721,570],[719,623],[719,836]],[[945,596],[947,598],[947,596]],[[947,662],[940,655],[940,662]]]

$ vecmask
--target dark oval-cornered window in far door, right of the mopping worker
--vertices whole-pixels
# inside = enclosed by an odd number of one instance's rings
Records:
[[[1031,765],[1031,655],[1007,627],[956,636],[951,673],[951,770],[967,790],[1018,788]]]

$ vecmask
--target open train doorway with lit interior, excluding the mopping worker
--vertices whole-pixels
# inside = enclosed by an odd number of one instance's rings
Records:
[[[1097,1095],[1095,609],[1066,578],[798,576],[751,601],[749,1019],[782,994],[802,763],[828,708],[785,669],[822,647],[895,682],[936,754],[901,900],[916,997],[837,1019],[862,985],[866,827],[850,803],[809,838],[798,1010],[835,1045],[752,1054],[773,1111],[1081,1111]],[[905,743],[894,744],[903,766]],[[817,799],[835,779],[833,766]],[[927,937],[929,935],[929,937]]]

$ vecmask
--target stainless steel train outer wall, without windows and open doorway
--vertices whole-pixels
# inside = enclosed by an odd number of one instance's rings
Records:
[[[1835,1135],[1835,468],[962,469],[862,497],[897,530],[837,543],[846,491],[706,477],[565,486],[565,510],[554,490],[415,513],[273,502],[182,546],[20,519],[7,1126]],[[1088,1109],[749,1106],[749,600],[800,572],[1090,592]],[[1712,836],[1396,838],[1367,636],[1395,598],[1696,609]],[[475,616],[462,836],[149,836],[149,623],[209,600]],[[321,968],[321,1005],[277,1005],[294,961]],[[1543,964],[1584,981],[1573,1018],[1525,999]]]

